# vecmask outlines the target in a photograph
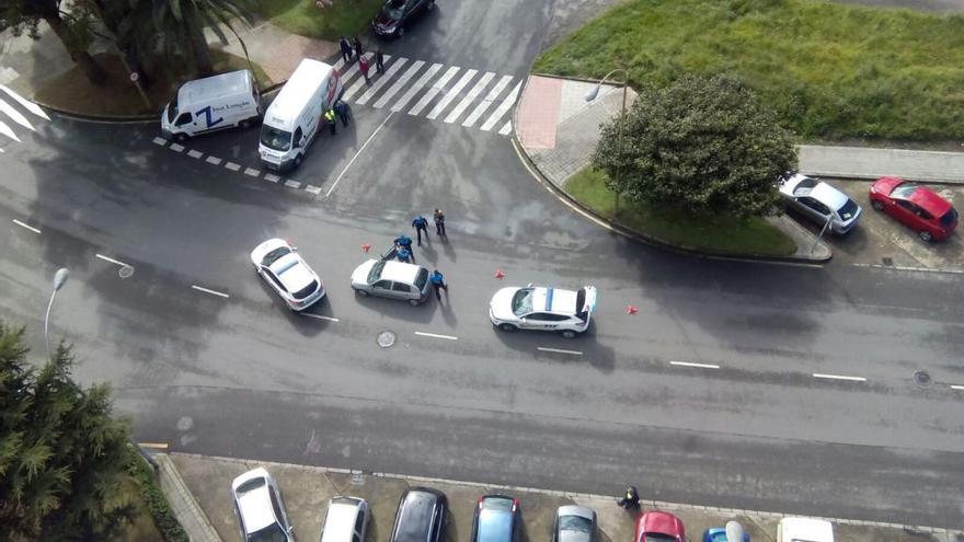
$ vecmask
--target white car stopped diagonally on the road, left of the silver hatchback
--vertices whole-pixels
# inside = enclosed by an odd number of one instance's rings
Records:
[[[324,297],[324,284],[284,239],[268,239],[251,251],[251,265],[288,308],[303,311]]]

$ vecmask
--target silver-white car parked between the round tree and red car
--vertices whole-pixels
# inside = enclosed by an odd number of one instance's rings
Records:
[[[787,205],[822,227],[829,220],[831,232],[842,235],[857,226],[860,206],[847,194],[818,180],[788,172],[778,182]]]

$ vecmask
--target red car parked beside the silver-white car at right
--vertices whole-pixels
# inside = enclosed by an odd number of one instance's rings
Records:
[[[909,226],[925,241],[946,239],[957,227],[951,203],[927,186],[881,177],[870,187],[870,205]]]

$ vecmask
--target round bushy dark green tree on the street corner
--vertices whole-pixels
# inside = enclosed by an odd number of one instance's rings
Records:
[[[593,154],[618,195],[742,217],[773,212],[774,178],[795,163],[791,134],[776,114],[720,76],[645,87],[624,118],[602,127]]]

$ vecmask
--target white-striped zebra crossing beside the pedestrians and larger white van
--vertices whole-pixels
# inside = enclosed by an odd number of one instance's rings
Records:
[[[365,56],[374,66],[374,55]],[[498,126],[500,135],[512,134],[512,118],[506,115],[519,97],[521,78],[391,55],[385,55],[385,73],[369,72],[369,83],[357,62],[346,65],[340,58],[334,67],[342,73],[342,100],[349,104],[387,107],[482,131]]]

